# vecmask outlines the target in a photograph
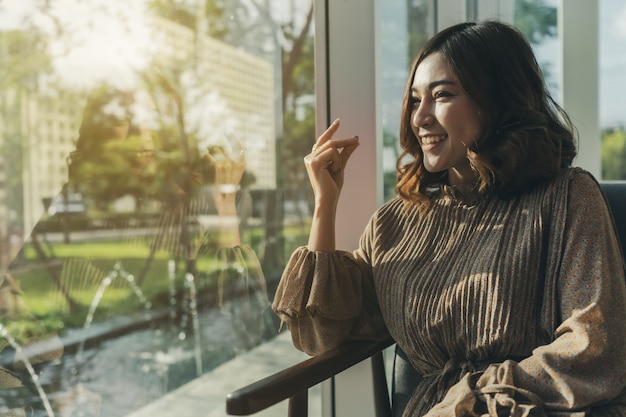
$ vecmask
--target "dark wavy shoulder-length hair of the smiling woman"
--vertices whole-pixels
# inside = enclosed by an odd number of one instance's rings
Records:
[[[451,26],[422,48],[411,67],[402,105],[396,192],[428,202],[447,184],[447,172],[426,171],[411,129],[411,85],[415,70],[440,53],[484,118],[483,132],[468,146],[477,174],[474,192],[501,198],[550,181],[576,156],[575,128],[550,96],[533,51],[514,27],[495,21]],[[407,158],[409,158],[409,162]]]

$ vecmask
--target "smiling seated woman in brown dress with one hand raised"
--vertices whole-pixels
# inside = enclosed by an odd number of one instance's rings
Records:
[[[626,280],[596,180],[532,50],[498,22],[450,27],[404,98],[398,197],[354,253],[334,243],[358,138],[305,158],[316,208],[273,309],[317,354],[383,337],[423,380],[405,416],[626,416]],[[407,158],[411,158],[407,162]]]

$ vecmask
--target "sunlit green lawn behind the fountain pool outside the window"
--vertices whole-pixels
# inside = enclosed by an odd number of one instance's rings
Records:
[[[287,259],[296,246],[306,243],[307,233],[308,225],[287,227],[282,230],[284,259]],[[261,228],[247,229],[242,239],[255,248],[255,252],[263,252],[264,230]],[[121,241],[55,243],[52,248],[47,247],[46,250],[54,259],[52,265],[44,265],[38,259],[32,245],[27,245],[23,251],[23,262],[12,271],[13,277],[23,291],[22,311],[28,314],[23,314],[20,318],[12,317],[3,325],[18,339],[28,339],[47,332],[62,333],[64,329],[82,326],[98,288],[118,262],[123,271],[132,275],[134,281],[140,284],[143,295],[153,309],[169,305],[168,261],[171,254],[166,251],[155,252],[148,265],[150,248],[147,243]],[[216,292],[218,276],[223,268],[221,261],[211,255],[209,250],[208,254],[198,256],[195,262],[199,271],[195,281],[199,295]],[[146,267],[142,280],[141,274]],[[179,297],[186,291],[185,268],[183,259],[176,260],[175,282]],[[233,279],[236,273],[232,271],[226,275],[222,273],[222,277],[224,276],[226,279]],[[61,290],[55,277],[60,277],[58,279],[65,291]],[[73,310],[70,309],[68,300],[74,304]],[[134,314],[144,308],[129,283],[125,279],[115,278],[104,291],[94,320]]]

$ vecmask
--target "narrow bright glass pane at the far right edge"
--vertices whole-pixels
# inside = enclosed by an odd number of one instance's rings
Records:
[[[626,180],[626,4],[600,1],[602,179]]]

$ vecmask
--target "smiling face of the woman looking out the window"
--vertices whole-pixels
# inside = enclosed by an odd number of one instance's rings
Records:
[[[452,185],[471,183],[467,148],[483,130],[480,111],[440,53],[417,67],[411,85],[411,128],[429,172],[448,171]]]

